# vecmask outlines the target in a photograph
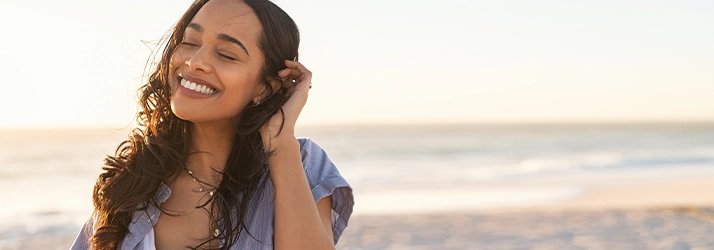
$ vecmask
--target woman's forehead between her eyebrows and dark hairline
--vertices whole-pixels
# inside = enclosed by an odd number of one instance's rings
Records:
[[[253,9],[238,0],[208,1],[191,19],[191,23],[199,24],[203,33],[227,34],[251,44],[258,41],[262,30]]]

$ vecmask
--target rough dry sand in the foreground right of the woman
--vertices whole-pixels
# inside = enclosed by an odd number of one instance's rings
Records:
[[[712,214],[714,207],[361,216],[338,249],[714,249]]]

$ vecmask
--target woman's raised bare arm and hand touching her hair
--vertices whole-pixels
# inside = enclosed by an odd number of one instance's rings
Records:
[[[285,61],[278,72],[288,100],[260,129],[275,190],[275,249],[335,249],[332,198],[313,200],[301,163],[295,123],[307,102],[312,72],[299,62]],[[282,130],[281,130],[282,126]]]

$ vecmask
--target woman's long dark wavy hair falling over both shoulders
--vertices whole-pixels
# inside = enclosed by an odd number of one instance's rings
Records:
[[[170,107],[169,62],[183,39],[186,26],[209,0],[196,0],[174,26],[161,59],[148,82],[139,89],[138,128],[117,147],[114,156],[104,159],[104,172],[94,186],[93,202],[97,213],[93,249],[116,249],[128,232],[132,214],[148,206],[160,207],[153,199],[161,183],[179,173],[189,153],[191,134],[188,121],[179,119]],[[262,147],[258,129],[276,112],[282,112],[287,100],[285,89],[275,90],[271,80],[280,80],[278,71],[285,59],[297,59],[300,35],[297,25],[280,7],[269,0],[243,0],[262,25],[259,46],[265,55],[260,80],[266,85],[267,98],[260,105],[248,105],[234,120],[235,137],[230,156],[222,172],[221,183],[210,198],[211,223],[218,235],[211,235],[201,245],[220,240],[220,248],[229,249],[246,228],[245,216],[251,198],[266,174],[268,153]],[[217,214],[214,214],[214,211]],[[163,211],[165,212],[166,211]]]

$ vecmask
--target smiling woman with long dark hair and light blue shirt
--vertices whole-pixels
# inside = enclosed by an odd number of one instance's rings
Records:
[[[354,204],[296,139],[312,73],[268,0],[197,0],[140,91],[140,128],[94,188],[72,249],[334,249]]]

